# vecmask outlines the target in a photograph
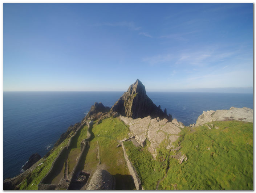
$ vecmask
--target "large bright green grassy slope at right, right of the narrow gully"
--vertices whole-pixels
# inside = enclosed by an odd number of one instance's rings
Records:
[[[212,122],[207,126],[186,127],[176,144],[188,160],[182,165],[170,159],[167,176],[160,189],[252,189],[252,123]],[[196,147],[198,146],[198,147]],[[210,148],[210,150],[208,150]]]

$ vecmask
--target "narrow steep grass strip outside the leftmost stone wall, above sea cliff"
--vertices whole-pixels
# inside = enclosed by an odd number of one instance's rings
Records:
[[[57,157],[62,148],[68,144],[69,139],[65,139],[60,145],[53,149],[51,154],[45,158],[41,159],[38,164],[42,163],[34,169],[26,178],[21,182],[19,187],[20,190],[37,190],[37,185],[42,180],[42,178],[48,173],[49,169],[52,167],[54,159]]]

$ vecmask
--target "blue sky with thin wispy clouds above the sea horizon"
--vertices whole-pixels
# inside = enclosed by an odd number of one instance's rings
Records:
[[[253,86],[253,4],[3,4],[3,91]]]

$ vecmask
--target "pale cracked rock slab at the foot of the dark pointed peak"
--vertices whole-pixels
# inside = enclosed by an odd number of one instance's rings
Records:
[[[119,118],[126,125],[130,126],[130,135],[135,135],[135,140],[137,140],[140,146],[145,146],[146,139],[149,140],[148,150],[154,158],[157,156],[157,147],[159,147],[163,140],[167,143],[166,149],[174,148],[172,142],[179,138],[178,134],[181,131],[177,125],[168,122],[167,119],[151,119],[150,116],[137,119],[123,116]]]

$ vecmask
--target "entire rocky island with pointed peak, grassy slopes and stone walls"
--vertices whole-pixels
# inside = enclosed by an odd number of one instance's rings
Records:
[[[231,107],[186,127],[136,80],[111,108],[96,102],[3,188],[253,189],[252,122],[252,109]]]

